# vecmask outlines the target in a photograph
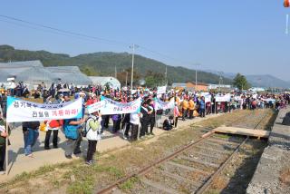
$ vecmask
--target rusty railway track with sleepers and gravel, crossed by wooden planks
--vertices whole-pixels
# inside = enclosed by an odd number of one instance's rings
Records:
[[[227,125],[257,129],[267,113],[254,114],[255,112],[243,118],[238,117],[236,121]],[[245,118],[251,123],[245,122]],[[119,179],[97,193],[111,193],[131,178],[137,178],[139,181],[131,189],[131,193],[203,193],[248,139],[249,137],[225,138],[211,134],[190,142],[167,157]]]

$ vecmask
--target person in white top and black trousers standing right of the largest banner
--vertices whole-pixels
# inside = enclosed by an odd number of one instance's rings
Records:
[[[85,124],[86,138],[88,139],[88,152],[86,164],[92,165],[93,155],[96,152],[97,142],[101,140],[101,121],[102,117],[99,112],[93,112]]]

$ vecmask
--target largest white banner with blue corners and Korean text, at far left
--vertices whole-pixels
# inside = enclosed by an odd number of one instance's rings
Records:
[[[7,122],[82,118],[82,98],[59,104],[43,104],[7,98]]]

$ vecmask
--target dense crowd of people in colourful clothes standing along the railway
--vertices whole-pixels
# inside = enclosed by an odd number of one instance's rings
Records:
[[[0,105],[2,110],[0,126],[5,126],[6,100],[8,95],[24,98],[42,98],[43,103],[63,103],[71,99],[82,98],[83,117],[81,119],[27,121],[23,122],[24,154],[34,157],[33,146],[38,138],[39,129],[46,131],[44,149],[50,150],[50,139],[53,133],[53,148],[58,148],[58,132],[63,131],[67,141],[65,157],[72,159],[73,154],[81,153],[82,138],[88,140],[88,152],[86,163],[91,165],[93,154],[96,151],[97,141],[102,139],[105,130],[109,130],[112,121],[111,132],[122,131],[123,138],[129,141],[143,140],[146,136],[154,135],[154,127],[169,131],[178,127],[179,119],[182,121],[193,120],[195,117],[206,117],[208,114],[219,112],[232,112],[236,109],[264,109],[273,108],[279,110],[285,104],[290,103],[289,93],[214,93],[214,92],[190,92],[183,89],[169,89],[165,93],[158,94],[156,88],[112,89],[101,85],[88,85],[77,88],[73,84],[55,84],[46,88],[44,83],[38,85],[34,92],[29,92],[23,82],[16,84],[14,88],[0,89]],[[219,96],[228,96],[225,102],[218,102]],[[107,97],[115,102],[132,102],[142,99],[140,112],[102,115],[102,112],[87,114],[85,108],[95,102],[100,102],[101,97]],[[174,107],[167,110],[156,110],[155,100],[162,102],[174,101]],[[3,171],[5,160],[6,131],[0,131],[0,171]]]

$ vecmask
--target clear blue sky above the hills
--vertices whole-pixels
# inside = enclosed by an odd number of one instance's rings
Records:
[[[0,17],[0,44],[52,53],[131,52],[167,63],[290,81],[290,34],[283,0],[6,0],[0,15],[121,42],[27,27]],[[8,23],[7,23],[8,22]],[[164,55],[160,55],[162,53]]]

